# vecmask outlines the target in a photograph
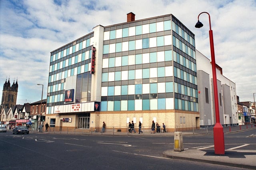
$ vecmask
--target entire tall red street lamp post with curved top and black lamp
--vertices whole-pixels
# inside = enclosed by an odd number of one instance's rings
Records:
[[[203,26],[203,24],[199,21],[199,16],[203,13],[208,14],[209,25],[210,25],[209,36],[210,36],[211,58],[212,58],[212,81],[213,81],[213,89],[214,89],[214,105],[215,105],[215,117],[216,117],[216,124],[213,127],[214,152],[215,154],[225,154],[224,133],[223,133],[223,127],[220,124],[216,63],[215,63],[215,55],[214,55],[214,43],[213,43],[210,14],[208,12],[201,12],[198,15],[198,22],[196,23],[195,27],[200,28]]]

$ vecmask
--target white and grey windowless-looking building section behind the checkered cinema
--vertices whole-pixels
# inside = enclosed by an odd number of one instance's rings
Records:
[[[198,103],[200,126],[215,124],[214,90],[212,83],[212,64],[210,59],[196,50],[198,77]],[[222,68],[216,64],[220,123],[225,126],[238,123],[236,84],[222,74]]]

